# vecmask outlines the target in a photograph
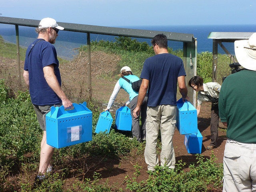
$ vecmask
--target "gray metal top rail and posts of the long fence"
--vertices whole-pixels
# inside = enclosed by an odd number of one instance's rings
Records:
[[[23,18],[11,18],[0,17],[0,23],[15,25],[16,30],[16,46],[17,46],[17,65],[18,75],[20,74],[20,50],[19,50],[19,26],[38,27],[40,20],[23,19]],[[138,30],[128,28],[116,28],[105,26],[94,26],[85,24],[74,24],[58,22],[60,26],[64,27],[65,31],[81,32],[87,35],[87,47],[88,47],[88,93],[89,98],[92,97],[92,80],[91,80],[91,58],[90,58],[90,34],[102,34],[112,36],[126,36],[133,38],[148,38],[152,39],[157,34],[165,34],[168,40],[183,42],[183,62],[186,70],[186,81],[192,76],[196,75],[196,55],[197,55],[197,40],[193,34],[166,32],[166,31],[154,31],[154,30]],[[21,83],[21,79],[19,80]],[[188,96],[193,98],[193,104],[195,106],[196,94],[193,90],[188,90]]]

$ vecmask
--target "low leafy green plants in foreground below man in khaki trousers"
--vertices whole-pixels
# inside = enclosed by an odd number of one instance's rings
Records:
[[[222,166],[215,163],[215,156],[204,159],[197,154],[197,165],[190,165],[190,170],[182,170],[185,164],[180,161],[177,169],[170,170],[168,167],[156,166],[154,172],[149,172],[150,177],[146,181],[137,182],[138,167],[136,167],[136,177],[126,177],[127,189],[130,191],[161,191],[161,192],[206,192],[213,189],[222,188]]]

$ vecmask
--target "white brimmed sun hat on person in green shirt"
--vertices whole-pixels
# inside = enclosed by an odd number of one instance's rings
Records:
[[[237,40],[234,43],[236,59],[246,69],[256,71],[256,33],[248,40]]]

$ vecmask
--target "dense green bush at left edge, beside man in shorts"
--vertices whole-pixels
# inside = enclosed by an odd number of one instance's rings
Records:
[[[0,103],[2,156],[23,158],[24,153],[38,150],[35,144],[40,132],[28,92],[18,92],[16,98]]]

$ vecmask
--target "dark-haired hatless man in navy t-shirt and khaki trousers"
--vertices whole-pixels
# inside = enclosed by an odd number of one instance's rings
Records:
[[[145,161],[148,170],[154,171],[159,164],[156,143],[159,128],[161,131],[162,150],[161,166],[174,168],[175,154],[172,136],[176,124],[177,82],[183,100],[188,99],[185,84],[186,72],[181,58],[168,53],[167,38],[164,34],[154,36],[151,41],[155,56],[147,58],[140,75],[140,86],[137,106],[133,111],[136,117],[148,90],[148,110],[146,118]]]

